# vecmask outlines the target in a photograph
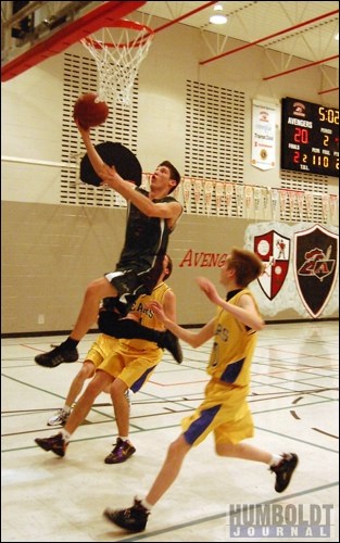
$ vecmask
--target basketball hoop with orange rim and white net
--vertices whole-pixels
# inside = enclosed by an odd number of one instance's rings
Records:
[[[138,68],[149,52],[154,33],[134,21],[122,18],[112,28],[102,29],[102,39],[81,39],[98,71],[98,100],[112,99],[129,106]]]

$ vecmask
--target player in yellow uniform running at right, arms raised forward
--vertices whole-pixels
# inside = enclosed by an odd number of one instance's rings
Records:
[[[257,255],[234,248],[221,270],[226,300],[219,296],[209,279],[198,278],[200,289],[217,305],[216,316],[198,332],[178,326],[156,302],[150,304],[165,327],[191,346],[198,348],[214,338],[207,366],[211,380],[202,404],[182,420],[182,433],[169,445],[163,467],[147,496],[135,497],[128,509],[104,510],[104,516],[116,526],[130,532],[144,530],[152,507],[177,478],[185,456],[210,432],[214,433],[217,455],[264,463],[276,473],[275,490],[282,492],[287,489],[298,456],[294,453],[280,456],[241,443],[254,432],[247,395],[256,336],[264,326],[256,301],[247,287],[262,273],[263,263]]]

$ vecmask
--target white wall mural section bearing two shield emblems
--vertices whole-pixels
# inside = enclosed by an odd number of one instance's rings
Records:
[[[250,289],[266,318],[286,311],[305,319],[339,313],[338,227],[256,222],[245,228],[244,249],[265,264]]]

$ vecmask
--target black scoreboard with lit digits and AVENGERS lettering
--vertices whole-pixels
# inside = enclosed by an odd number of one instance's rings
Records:
[[[282,99],[281,168],[339,176],[339,110]]]

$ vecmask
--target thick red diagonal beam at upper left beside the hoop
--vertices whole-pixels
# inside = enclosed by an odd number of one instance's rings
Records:
[[[1,67],[1,81],[8,81],[40,62],[61,53],[70,46],[93,31],[112,26],[115,21],[143,5],[144,1],[110,1],[90,11],[63,28],[55,30],[49,38],[33,46]]]

